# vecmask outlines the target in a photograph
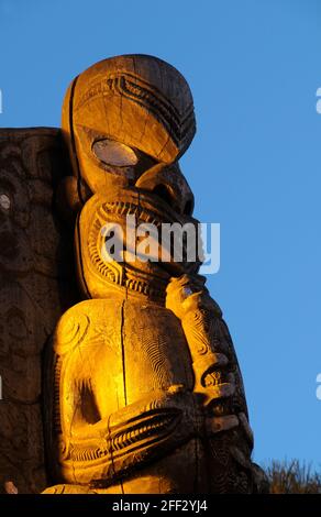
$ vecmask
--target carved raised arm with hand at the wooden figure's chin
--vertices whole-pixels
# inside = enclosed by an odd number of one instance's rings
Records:
[[[251,437],[236,355],[222,311],[204,282],[200,275],[173,278],[166,307],[181,321],[192,359],[193,392],[206,409],[208,431],[215,433],[241,422]]]

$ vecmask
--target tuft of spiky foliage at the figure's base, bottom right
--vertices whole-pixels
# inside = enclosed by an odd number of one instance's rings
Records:
[[[273,461],[265,473],[270,494],[321,494],[321,474],[305,462]]]

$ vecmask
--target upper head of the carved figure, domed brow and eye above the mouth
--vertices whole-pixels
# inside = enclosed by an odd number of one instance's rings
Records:
[[[191,92],[179,72],[156,57],[104,59],[69,86],[63,131],[75,174],[92,193],[106,194],[185,153],[196,131]]]

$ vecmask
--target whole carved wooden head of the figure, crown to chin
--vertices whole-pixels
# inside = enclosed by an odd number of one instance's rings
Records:
[[[126,216],[137,224],[196,222],[193,196],[178,165],[195,128],[186,80],[155,57],[102,61],[69,87],[63,130],[86,204],[77,241],[80,277],[91,296],[104,296],[113,283],[153,297],[170,276],[198,270],[197,263],[174,261],[107,264],[101,256],[107,222],[124,227]]]

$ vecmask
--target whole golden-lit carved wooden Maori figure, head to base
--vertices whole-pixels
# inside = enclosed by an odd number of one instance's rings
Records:
[[[195,131],[186,80],[155,57],[102,61],[67,91],[60,200],[84,300],[47,350],[47,493],[256,490],[242,376],[200,264],[103,256],[104,226],[128,216],[196,224],[178,164]]]

